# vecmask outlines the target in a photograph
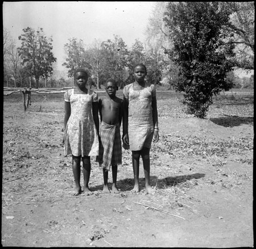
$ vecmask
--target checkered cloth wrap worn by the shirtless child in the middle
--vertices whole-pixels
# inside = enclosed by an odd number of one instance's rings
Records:
[[[112,164],[122,163],[122,145],[119,123],[106,124],[101,121],[100,125],[100,151],[96,157],[100,167],[110,170]]]

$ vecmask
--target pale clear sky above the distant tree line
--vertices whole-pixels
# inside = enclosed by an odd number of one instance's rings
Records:
[[[145,40],[148,18],[156,2],[21,1],[3,2],[3,27],[20,45],[22,29],[43,28],[52,37],[57,67],[65,60],[64,44],[76,38],[90,45],[94,40],[113,40],[118,35],[128,48],[135,39]]]

